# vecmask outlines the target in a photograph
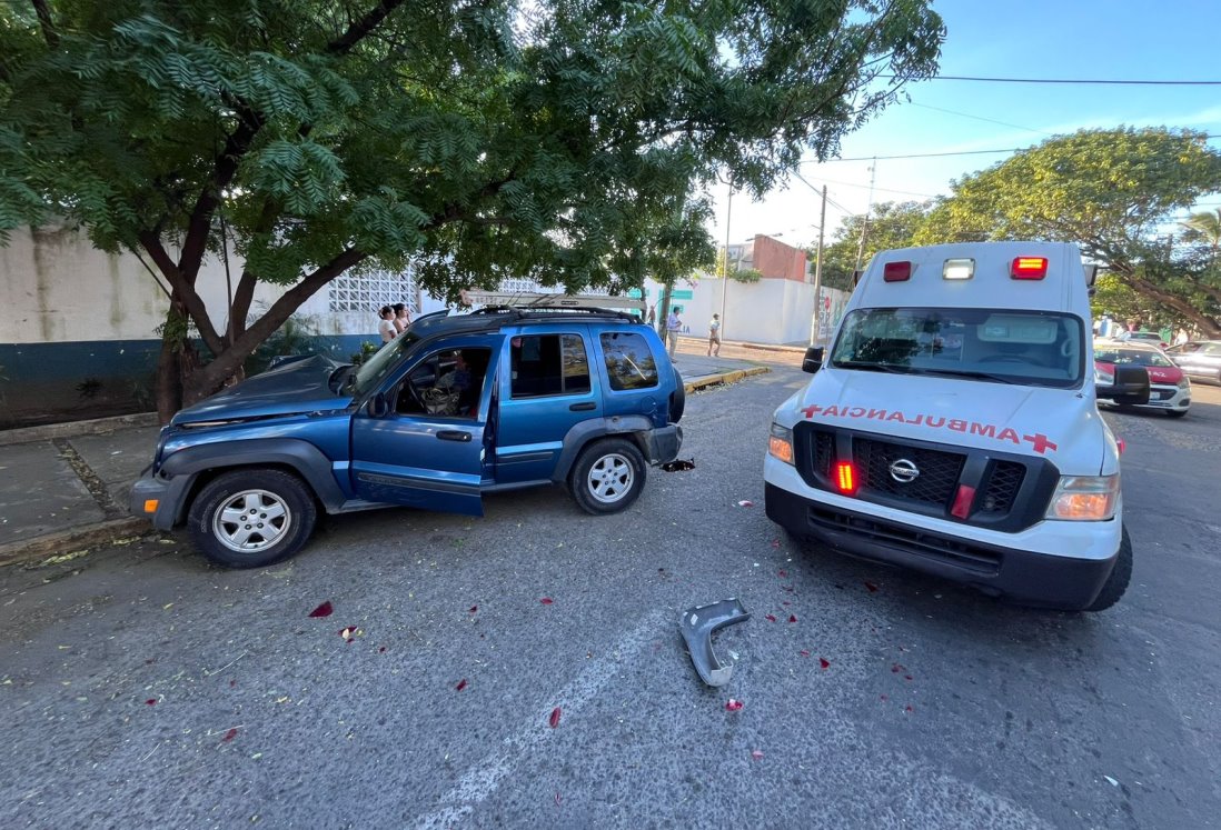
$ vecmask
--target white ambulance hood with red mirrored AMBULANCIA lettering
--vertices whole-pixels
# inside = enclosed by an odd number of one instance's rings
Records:
[[[796,422],[1040,455],[1066,475],[1098,475],[1105,453],[1098,406],[1082,389],[823,369],[790,413]]]

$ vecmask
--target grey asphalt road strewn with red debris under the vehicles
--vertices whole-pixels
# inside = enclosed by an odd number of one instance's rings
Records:
[[[1136,575],[1081,615],[794,549],[761,467],[803,380],[692,395],[695,469],[626,514],[536,491],[261,571],[156,537],[0,571],[0,826],[1215,826],[1221,389],[1107,415]],[[735,596],[712,690],[678,621]]]

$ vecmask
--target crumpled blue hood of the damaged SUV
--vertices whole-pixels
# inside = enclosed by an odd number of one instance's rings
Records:
[[[352,403],[352,397],[336,395],[328,383],[342,365],[320,354],[292,360],[183,409],[171,424],[342,410]]]

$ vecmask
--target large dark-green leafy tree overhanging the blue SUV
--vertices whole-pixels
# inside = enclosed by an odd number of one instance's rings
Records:
[[[60,215],[145,259],[168,286],[168,417],[353,267],[413,258],[454,299],[711,262],[700,194],[726,173],[766,192],[929,76],[928,5],[10,2],[0,232]],[[227,247],[244,270],[214,320],[197,280]],[[249,319],[260,281],[286,290]]]

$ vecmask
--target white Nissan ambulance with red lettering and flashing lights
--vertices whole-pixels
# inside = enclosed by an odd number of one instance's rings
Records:
[[[810,384],[775,410],[768,516],[1024,604],[1115,604],[1132,547],[1096,394],[1142,403],[1149,378],[1095,389],[1089,282],[1063,243],[874,256],[825,361],[811,349]]]

